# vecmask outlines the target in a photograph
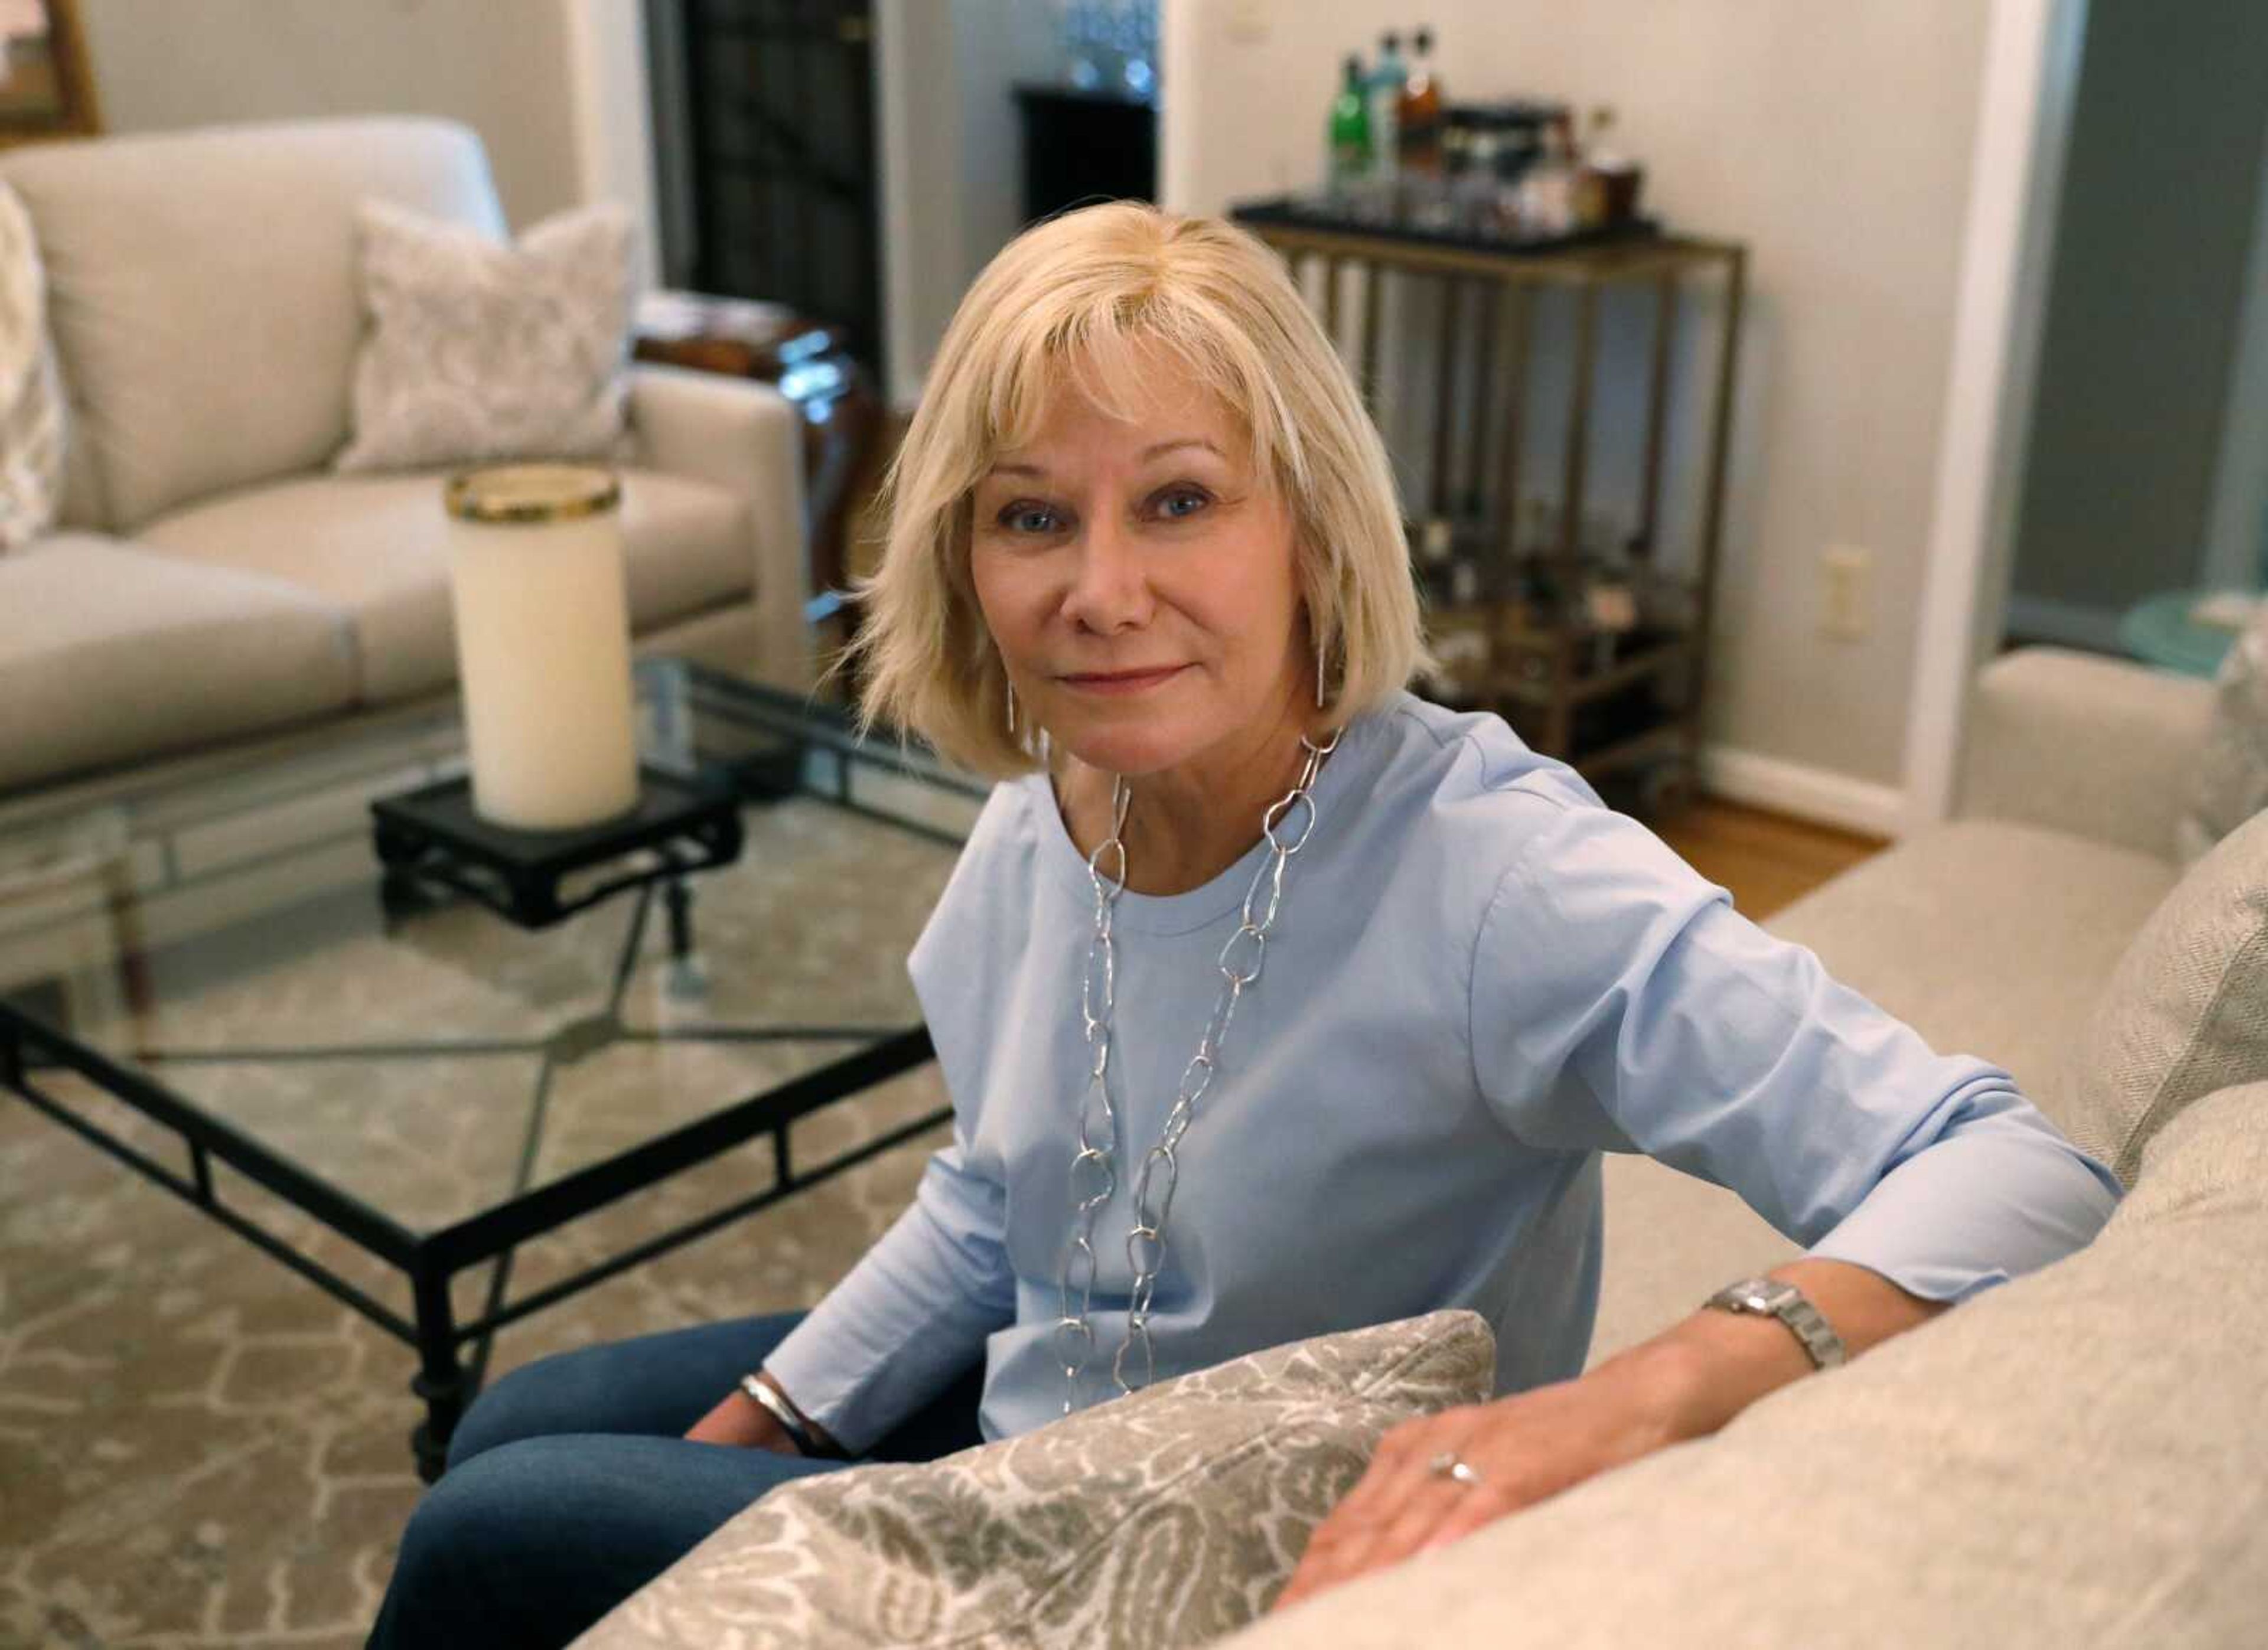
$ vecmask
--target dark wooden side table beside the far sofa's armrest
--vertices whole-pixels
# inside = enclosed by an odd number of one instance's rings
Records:
[[[846,349],[841,326],[785,304],[649,292],[637,304],[631,354],[696,372],[762,379],[803,415],[803,530],[812,553],[812,621],[835,614],[848,580],[850,485],[882,431],[873,376]]]

